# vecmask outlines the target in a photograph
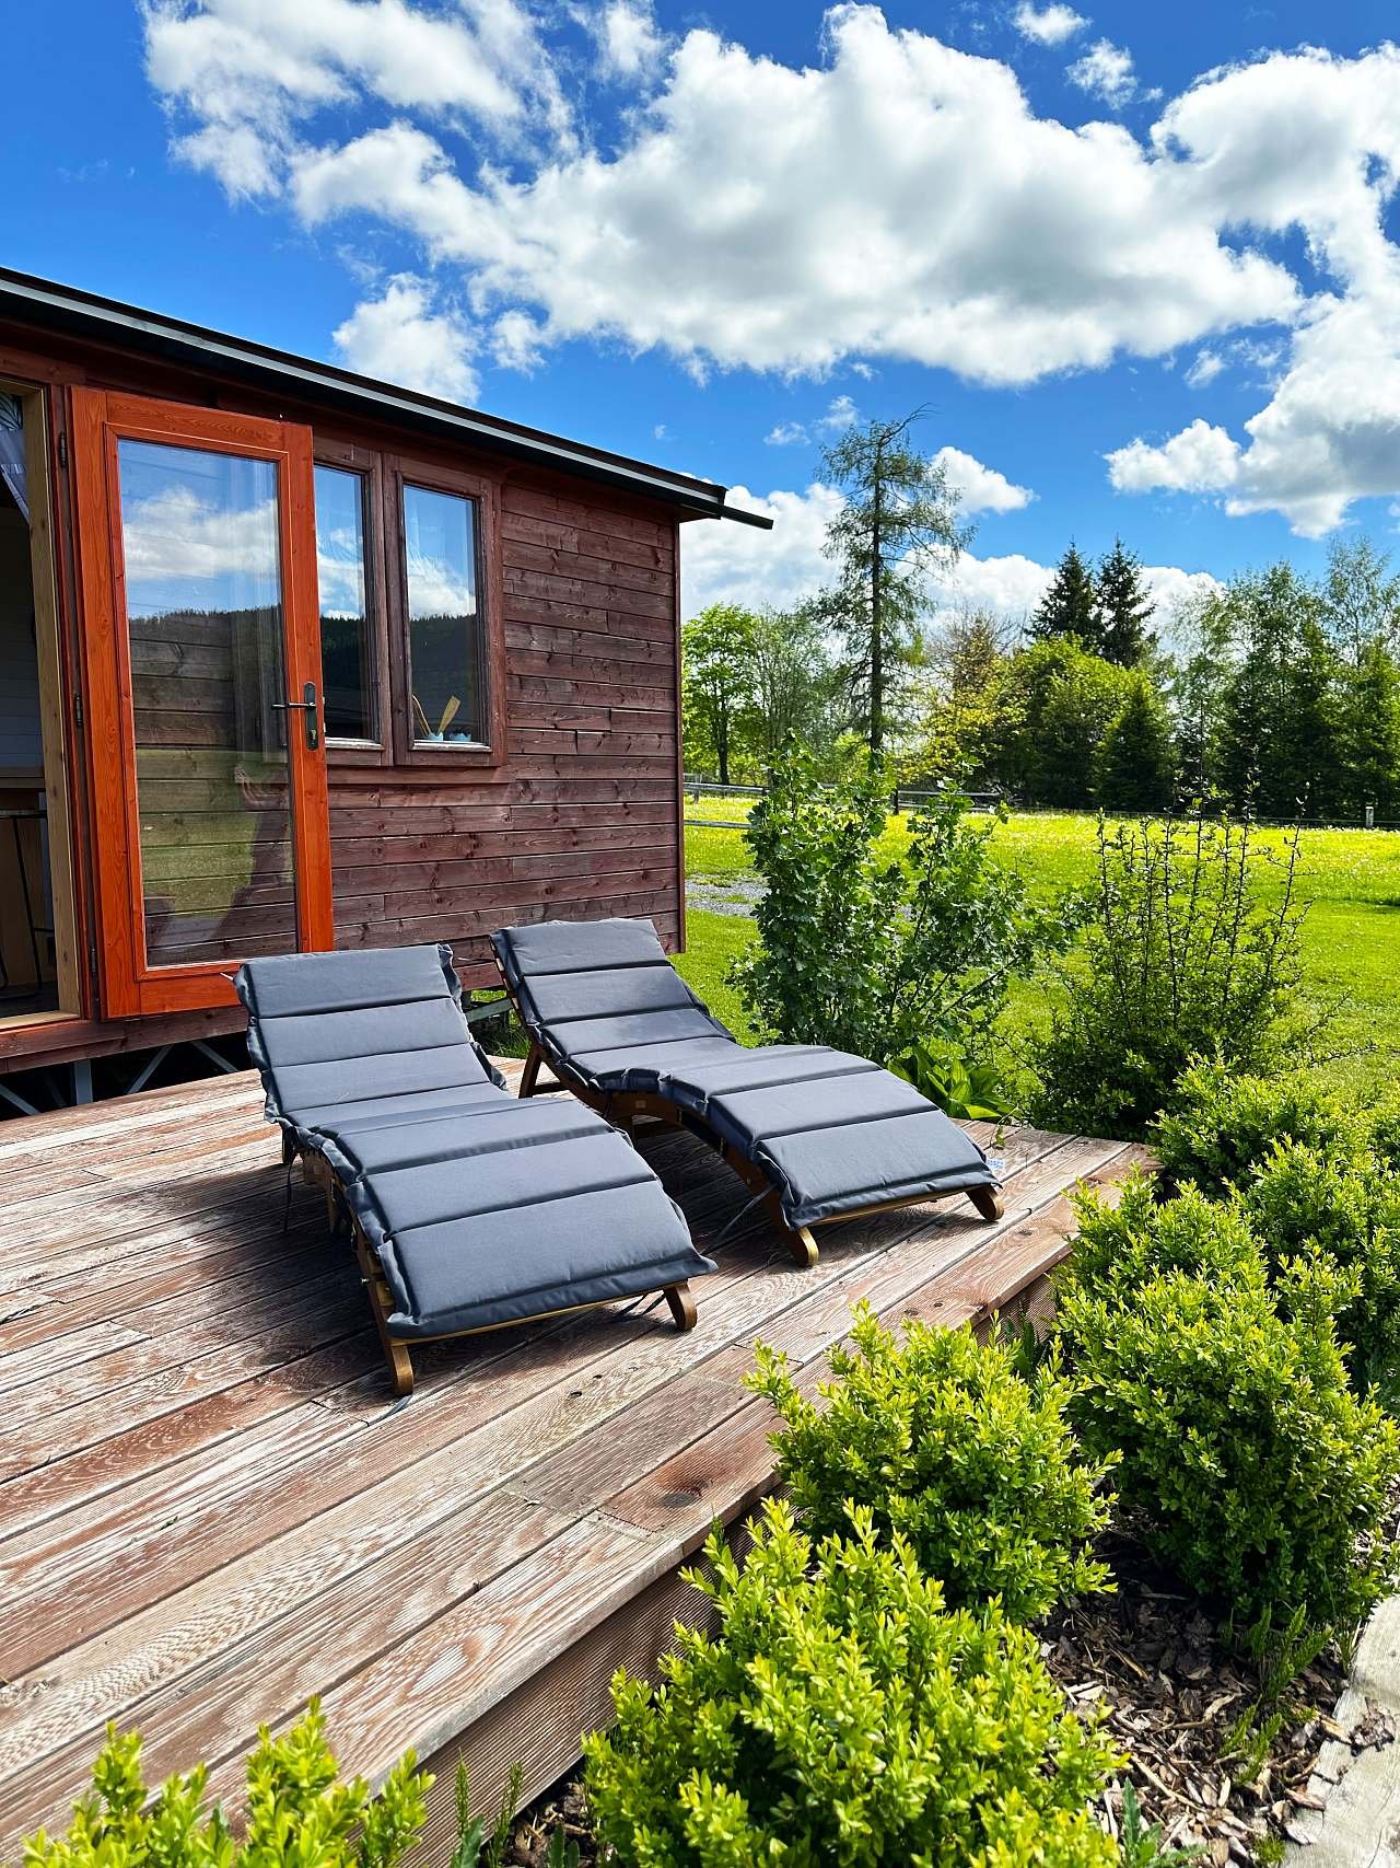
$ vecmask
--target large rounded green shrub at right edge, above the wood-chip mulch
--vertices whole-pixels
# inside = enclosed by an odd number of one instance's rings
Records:
[[[1378,1532],[1400,1429],[1348,1388],[1346,1295],[1303,1265],[1279,1298],[1256,1276],[1182,1270],[1058,1298],[1085,1444],[1122,1451],[1122,1507],[1148,1547],[1241,1629],[1301,1610],[1346,1636],[1393,1580]]]

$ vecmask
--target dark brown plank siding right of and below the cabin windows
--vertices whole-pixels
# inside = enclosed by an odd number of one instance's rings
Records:
[[[461,775],[330,755],[336,945],[452,941],[558,915],[679,940],[678,527],[590,486],[500,491],[506,757]]]

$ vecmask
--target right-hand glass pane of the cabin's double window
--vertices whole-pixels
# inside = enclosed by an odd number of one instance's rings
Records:
[[[482,740],[472,501],[405,486],[403,555],[414,742]]]

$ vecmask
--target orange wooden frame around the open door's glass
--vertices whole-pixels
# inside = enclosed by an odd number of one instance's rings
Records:
[[[110,390],[71,390],[101,1016],[138,1018],[233,1003],[235,962],[151,966],[146,955],[119,439],[243,454],[276,467],[287,700],[299,700],[306,682],[315,684],[317,697],[321,693],[321,618],[310,428]],[[284,717],[297,943],[314,951],[334,945],[325,732],[312,749],[301,729],[302,715]]]

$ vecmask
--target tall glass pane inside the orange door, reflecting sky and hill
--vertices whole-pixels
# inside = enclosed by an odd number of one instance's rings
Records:
[[[149,966],[295,953],[276,465],[118,441]]]

